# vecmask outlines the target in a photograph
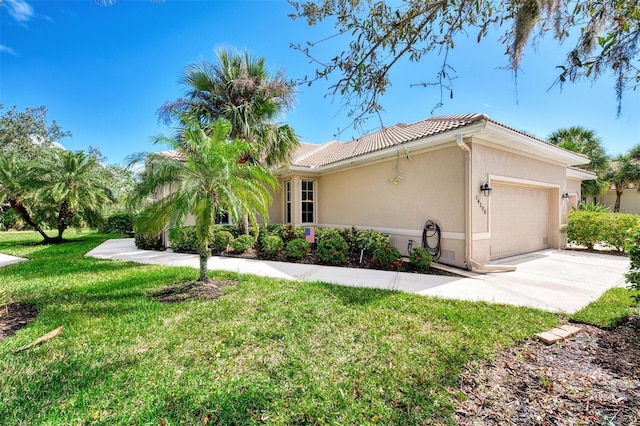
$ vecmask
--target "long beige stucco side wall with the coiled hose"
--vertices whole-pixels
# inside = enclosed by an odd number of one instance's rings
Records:
[[[396,177],[397,183],[390,182]],[[427,220],[442,231],[443,261],[464,265],[464,155],[456,146],[401,155],[317,178],[317,225],[371,228],[407,254]]]

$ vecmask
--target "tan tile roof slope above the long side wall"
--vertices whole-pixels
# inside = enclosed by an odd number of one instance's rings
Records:
[[[294,154],[291,165],[324,166],[488,120],[484,114],[460,114],[431,117],[411,124],[398,123],[350,142],[331,141],[316,145],[315,150],[304,147]]]

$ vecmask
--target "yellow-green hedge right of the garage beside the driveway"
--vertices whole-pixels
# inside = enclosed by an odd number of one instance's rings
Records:
[[[637,215],[574,210],[569,213],[567,242],[588,249],[601,244],[622,252],[631,230],[638,226]]]

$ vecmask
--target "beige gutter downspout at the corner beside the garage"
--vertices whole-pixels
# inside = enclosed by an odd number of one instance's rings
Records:
[[[465,175],[465,197],[464,197],[464,263],[468,270],[476,272],[499,272],[499,271],[515,271],[516,267],[512,265],[483,265],[473,259],[473,217],[471,212],[472,206],[472,184],[473,174],[471,161],[471,148],[462,139],[461,134],[456,135],[456,144],[464,151],[464,175]]]

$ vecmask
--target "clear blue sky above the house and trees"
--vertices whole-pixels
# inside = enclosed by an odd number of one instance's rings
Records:
[[[3,0],[0,102],[19,109],[45,105],[49,119],[73,133],[61,141],[65,147],[94,146],[109,163],[122,163],[130,154],[161,149],[151,137],[171,129],[158,122],[158,107],[180,95],[177,80],[184,67],[213,60],[217,47],[264,56],[271,71],[283,69],[292,79],[312,75],[313,65],[290,44],[320,40],[332,28],[293,21],[287,16],[292,11],[279,0],[119,0],[112,6],[90,0]],[[564,52],[551,39],[538,40],[526,52],[516,86],[512,73],[501,69],[507,64],[504,46],[494,40],[458,43],[450,55],[457,71],[454,97],[446,97],[434,114],[482,112],[542,138],[581,125],[595,130],[610,154],[640,143],[640,91],[625,94],[618,118],[612,78],[549,89]],[[331,41],[317,52],[328,58],[339,47],[340,41]],[[383,98],[384,125],[432,115],[439,90],[410,84],[432,81],[439,64],[440,58],[426,57],[394,70],[393,86]],[[338,129],[343,130],[340,140],[360,136],[349,127],[339,99],[325,96],[331,82],[299,88],[286,121],[304,141],[332,140]],[[378,124],[370,120],[365,128]]]

